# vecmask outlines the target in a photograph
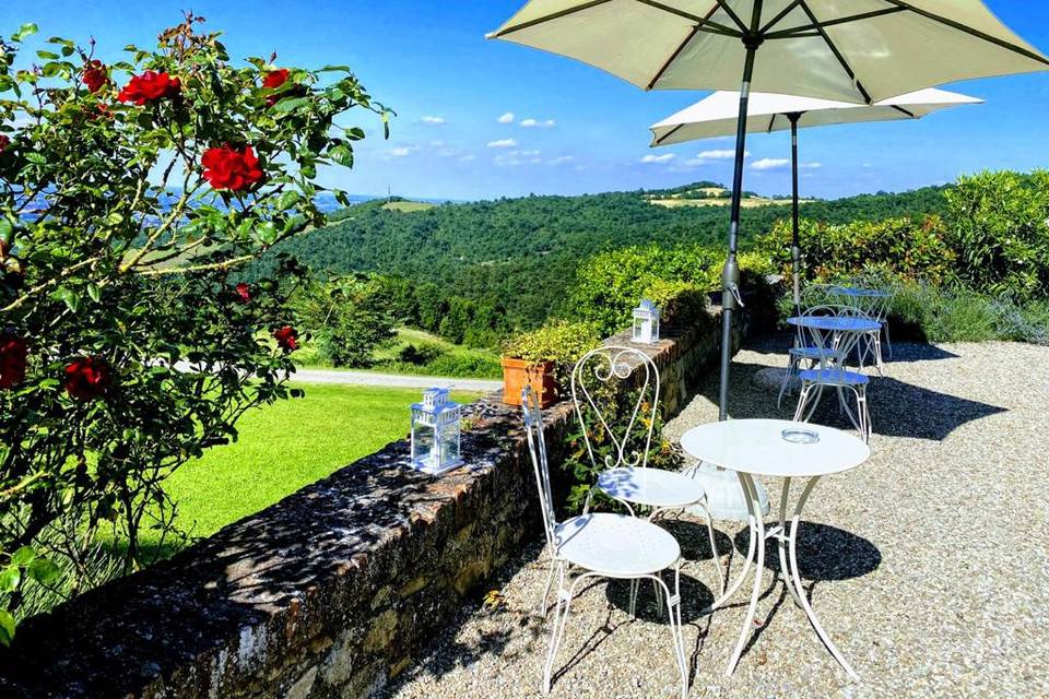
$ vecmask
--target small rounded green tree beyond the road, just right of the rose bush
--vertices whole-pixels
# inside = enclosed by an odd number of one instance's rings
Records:
[[[375,350],[397,334],[397,319],[385,300],[377,283],[343,277],[310,282],[295,306],[328,364],[367,367]]]

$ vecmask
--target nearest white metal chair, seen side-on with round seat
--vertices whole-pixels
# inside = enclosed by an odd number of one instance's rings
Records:
[[[628,514],[588,512],[558,522],[550,485],[546,442],[543,438],[543,415],[539,407],[539,396],[532,392],[531,387],[524,387],[521,391],[521,410],[524,413],[528,447],[535,472],[535,483],[539,486],[546,547],[552,560],[550,580],[553,580],[554,574],[557,577],[554,624],[551,629],[546,663],[543,666],[543,694],[550,692],[554,660],[564,639],[568,612],[579,585],[593,578],[611,578],[632,581],[632,616],[637,602],[639,581],[651,580],[656,589],[664,593],[662,600],[665,600],[667,613],[670,617],[674,659],[681,673],[681,696],[683,699],[686,698],[688,667],[681,632],[681,546],[667,530]],[[673,572],[673,594],[662,578],[664,571]],[[544,615],[545,603],[544,593]]]

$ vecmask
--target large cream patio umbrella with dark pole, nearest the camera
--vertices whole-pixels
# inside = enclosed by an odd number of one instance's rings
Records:
[[[644,90],[740,88],[722,272],[721,419],[751,90],[873,104],[1049,68],[980,0],[531,0],[488,36],[576,58]]]

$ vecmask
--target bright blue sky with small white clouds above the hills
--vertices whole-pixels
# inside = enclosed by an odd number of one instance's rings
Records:
[[[42,34],[98,40],[113,59],[128,43],[151,45],[181,9],[226,33],[234,57],[268,56],[303,67],[346,63],[380,102],[398,111],[389,141],[358,115],[368,139],[353,171],[327,175],[353,193],[482,199],[656,188],[697,179],[727,181],[730,164],[686,166],[705,141],[648,149],[647,127],[705,93],[644,93],[597,69],[484,34],[523,0],[322,0],[264,3],[4,2],[0,32],[36,22]],[[1028,42],[1049,52],[1049,3],[990,0]],[[1049,73],[956,83],[987,99],[918,122],[830,127],[803,132],[805,194],[837,197],[940,183],[985,168],[1049,166]],[[509,115],[509,116],[505,116]],[[500,117],[503,119],[500,120]],[[752,162],[789,156],[789,135],[751,137]],[[668,162],[641,162],[673,154]],[[746,188],[789,189],[787,168],[749,168]]]

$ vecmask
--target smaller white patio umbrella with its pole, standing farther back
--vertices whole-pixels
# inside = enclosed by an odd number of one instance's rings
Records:
[[[652,132],[651,146],[731,135],[736,129],[739,104],[740,93],[716,92],[649,127]],[[795,309],[801,304],[801,247],[798,240],[798,129],[834,123],[920,119],[940,109],[978,104],[983,104],[983,100],[935,87],[882,99],[870,106],[818,97],[751,93],[746,118],[749,132],[770,133],[786,129],[790,129],[791,132],[791,203],[793,205],[790,252]]]

